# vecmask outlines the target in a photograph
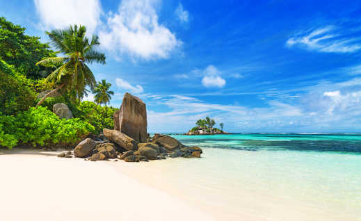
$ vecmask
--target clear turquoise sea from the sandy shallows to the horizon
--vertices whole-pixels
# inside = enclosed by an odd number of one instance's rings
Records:
[[[361,220],[361,134],[170,136],[202,158],[129,171],[216,220]]]

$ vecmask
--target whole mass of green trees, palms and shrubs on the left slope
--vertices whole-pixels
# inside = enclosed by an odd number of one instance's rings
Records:
[[[0,147],[74,146],[91,133],[113,129],[116,108],[80,102],[92,89],[99,91],[99,104],[108,104],[113,95],[106,81],[96,84],[88,67],[105,63],[104,54],[95,50],[97,36],[89,40],[83,26],[47,32],[62,55],[56,56],[48,44],[24,33],[25,28],[0,17]],[[34,107],[40,92],[56,88],[61,96],[45,97]],[[51,112],[56,103],[67,104],[75,118],[59,119]]]

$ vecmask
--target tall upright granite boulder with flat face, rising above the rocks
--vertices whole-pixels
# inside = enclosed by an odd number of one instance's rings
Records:
[[[115,130],[137,142],[147,142],[147,109],[141,99],[125,93],[122,106],[113,117]]]

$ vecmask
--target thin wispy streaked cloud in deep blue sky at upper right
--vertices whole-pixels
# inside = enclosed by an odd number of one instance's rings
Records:
[[[287,40],[286,45],[305,47],[312,51],[332,53],[352,53],[361,49],[359,39],[346,38],[335,33],[335,27],[326,26],[308,33],[300,33]]]

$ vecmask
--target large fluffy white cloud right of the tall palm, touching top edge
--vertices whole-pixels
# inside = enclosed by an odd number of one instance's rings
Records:
[[[145,60],[168,58],[182,41],[159,24],[154,8],[156,3],[152,0],[123,0],[118,13],[109,15],[107,30],[99,32],[102,47]]]

